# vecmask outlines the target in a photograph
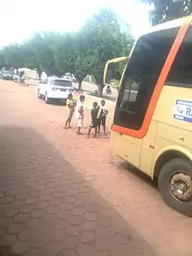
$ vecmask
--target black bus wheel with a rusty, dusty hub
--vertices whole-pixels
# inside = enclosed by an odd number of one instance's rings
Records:
[[[161,168],[158,186],[166,204],[187,216],[192,216],[192,164],[175,158]]]

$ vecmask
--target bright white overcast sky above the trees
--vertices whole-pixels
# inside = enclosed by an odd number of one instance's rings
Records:
[[[140,0],[4,0],[0,47],[20,43],[37,31],[78,31],[88,17],[104,7],[131,25],[134,38],[150,27],[150,7]]]

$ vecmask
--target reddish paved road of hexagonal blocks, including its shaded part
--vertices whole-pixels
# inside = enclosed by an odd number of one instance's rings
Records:
[[[126,170],[107,138],[64,130],[65,109],[34,87],[0,81],[0,104],[2,255],[191,256],[191,218]]]

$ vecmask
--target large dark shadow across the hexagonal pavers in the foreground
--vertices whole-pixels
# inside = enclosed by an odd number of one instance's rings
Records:
[[[1,127],[0,166],[0,255],[157,256],[36,130]]]

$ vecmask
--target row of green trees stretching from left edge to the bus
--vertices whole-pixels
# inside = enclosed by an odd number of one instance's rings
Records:
[[[129,26],[120,24],[113,11],[104,9],[90,17],[77,32],[46,31],[35,34],[22,44],[3,47],[0,68],[36,69],[39,78],[43,71],[48,76],[72,73],[79,82],[79,89],[89,74],[102,94],[106,61],[128,56],[133,45]]]

